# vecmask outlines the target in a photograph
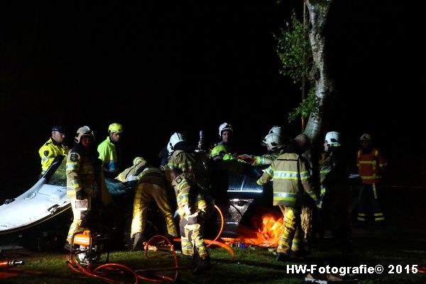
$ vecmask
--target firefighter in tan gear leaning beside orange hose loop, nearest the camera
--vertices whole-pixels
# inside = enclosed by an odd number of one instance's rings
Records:
[[[181,170],[171,170],[170,178],[178,203],[182,254],[192,256],[195,265],[192,273],[201,273],[212,266],[202,231],[204,222],[214,212],[214,201]]]

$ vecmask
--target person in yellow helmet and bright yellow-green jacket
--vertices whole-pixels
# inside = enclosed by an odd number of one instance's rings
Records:
[[[123,133],[124,129],[121,124],[110,124],[108,127],[109,136],[97,148],[99,159],[103,163],[105,178],[115,178],[121,172],[121,165],[123,164],[121,139]]]

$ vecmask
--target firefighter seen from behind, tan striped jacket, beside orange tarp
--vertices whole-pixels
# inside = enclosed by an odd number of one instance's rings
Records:
[[[266,185],[273,179],[273,205],[283,212],[283,232],[278,242],[277,261],[286,261],[290,251],[296,256],[304,254],[301,241],[304,234],[300,221],[303,193],[306,192],[315,204],[318,203],[317,195],[308,182],[310,173],[307,160],[301,155],[306,150],[307,141],[297,136],[297,140],[290,141],[286,153],[278,155],[257,180],[258,185]]]

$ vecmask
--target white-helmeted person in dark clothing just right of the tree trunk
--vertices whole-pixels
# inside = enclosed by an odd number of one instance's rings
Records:
[[[320,165],[320,207],[323,224],[332,230],[337,248],[343,252],[350,248],[349,225],[349,166],[340,143],[340,133],[325,135],[325,159]]]

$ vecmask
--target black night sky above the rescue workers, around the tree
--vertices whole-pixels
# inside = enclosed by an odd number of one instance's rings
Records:
[[[19,176],[38,175],[37,151],[55,124],[70,130],[70,141],[87,124],[100,142],[120,122],[129,155],[154,164],[174,131],[195,138],[202,129],[213,143],[227,121],[247,153],[263,151],[271,126],[297,135],[300,126],[288,124],[287,114],[300,91],[278,73],[272,33],[302,1],[140,2],[1,3],[4,189],[28,185],[10,181],[16,167],[26,172]],[[329,30],[338,88],[330,130],[353,147],[370,131],[399,163],[417,150],[405,133],[419,133],[422,122],[417,85],[425,72],[411,67],[424,62],[420,34],[412,35],[420,8],[337,2]],[[25,167],[16,163],[23,159]]]

